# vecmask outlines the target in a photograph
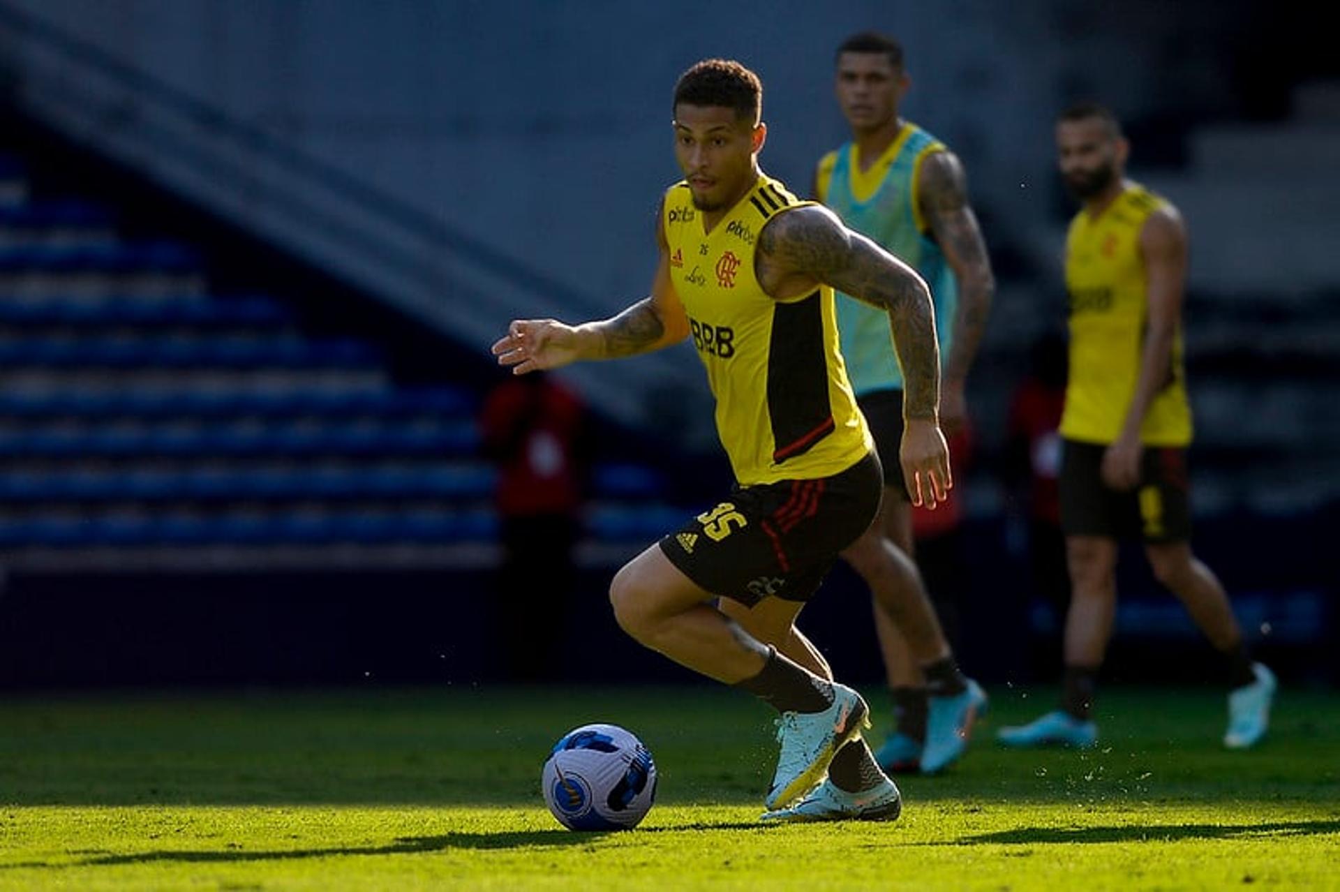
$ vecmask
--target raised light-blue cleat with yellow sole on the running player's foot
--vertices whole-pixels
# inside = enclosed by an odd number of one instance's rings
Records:
[[[870,727],[870,707],[846,684],[833,684],[832,704],[819,713],[783,713],[777,719],[777,773],[765,804],[775,812],[791,805],[823,779],[828,763],[847,741]]]

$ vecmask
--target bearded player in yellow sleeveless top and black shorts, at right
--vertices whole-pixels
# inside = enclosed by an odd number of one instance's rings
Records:
[[[1191,553],[1186,450],[1191,408],[1182,368],[1187,233],[1166,198],[1126,178],[1130,146],[1092,103],[1056,123],[1061,177],[1080,212],[1065,238],[1069,372],[1061,415],[1061,528],[1071,576],[1061,709],[1004,727],[1009,746],[1092,746],[1093,682],[1116,612],[1119,540],[1138,534],[1154,576],[1172,589],[1223,656],[1229,727],[1244,749],[1266,731],[1274,676],[1248,658],[1223,587]]]

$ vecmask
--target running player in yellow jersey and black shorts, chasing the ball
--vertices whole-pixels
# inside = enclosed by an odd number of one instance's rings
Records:
[[[651,295],[576,327],[512,321],[493,352],[528,372],[693,339],[737,485],[615,575],[615,617],[646,647],[780,713],[764,818],[890,820],[902,802],[860,737],[868,707],[833,682],[795,620],[882,494],[838,351],[832,288],[883,308],[907,375],[900,465],[927,505],[951,485],[935,317],[911,268],[760,170],[761,98],[737,62],[689,68],[673,104],[685,179],[661,202]]]

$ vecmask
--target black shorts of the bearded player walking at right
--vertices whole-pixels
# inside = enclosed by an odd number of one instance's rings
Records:
[[[1107,446],[1064,441],[1061,475],[1061,529],[1067,536],[1143,538],[1146,542],[1185,542],[1191,538],[1186,449],[1146,446],[1140,484],[1131,490],[1103,482]]]

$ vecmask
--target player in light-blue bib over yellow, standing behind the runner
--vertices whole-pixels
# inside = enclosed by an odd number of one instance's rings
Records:
[[[994,291],[963,166],[943,143],[899,117],[910,86],[902,44],[874,32],[854,35],[838,47],[836,67],[838,103],[851,141],[820,159],[815,196],[930,285],[945,358],[941,423],[953,434],[966,421],[963,383]],[[838,331],[875,446],[880,455],[895,455],[903,431],[903,376],[888,350],[888,325],[876,308],[839,293]],[[875,629],[894,699],[896,729],[875,757],[888,771],[934,773],[962,753],[986,698],[976,683],[965,688],[937,670],[950,648],[913,549],[911,496],[890,462],[879,518],[843,557],[874,595]]]

